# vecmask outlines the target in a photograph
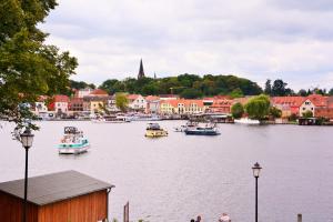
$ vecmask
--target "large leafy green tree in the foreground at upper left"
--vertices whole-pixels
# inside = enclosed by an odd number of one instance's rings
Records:
[[[57,6],[56,0],[0,2],[0,117],[16,123],[16,132],[38,128],[29,103],[41,94],[67,91],[77,59],[44,43],[38,24]]]

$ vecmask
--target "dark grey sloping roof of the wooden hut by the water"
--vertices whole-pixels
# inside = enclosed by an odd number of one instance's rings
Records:
[[[28,180],[28,201],[46,205],[75,196],[112,189],[114,185],[77,171],[64,171]],[[24,198],[24,179],[0,183],[0,191]]]

